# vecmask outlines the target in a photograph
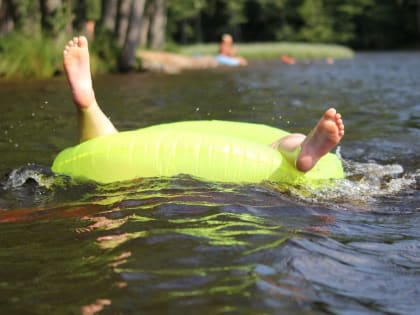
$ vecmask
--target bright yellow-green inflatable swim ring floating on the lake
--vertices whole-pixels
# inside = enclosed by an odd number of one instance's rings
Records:
[[[269,147],[289,133],[274,127],[228,121],[185,121],[98,137],[55,158],[55,173],[100,183],[188,174],[215,182],[311,183],[344,177],[332,153],[309,172],[295,169]]]

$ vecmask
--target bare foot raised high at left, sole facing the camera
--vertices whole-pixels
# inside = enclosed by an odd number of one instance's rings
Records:
[[[86,37],[70,40],[63,51],[64,70],[73,94],[73,101],[79,109],[96,103],[90,75],[89,50]]]

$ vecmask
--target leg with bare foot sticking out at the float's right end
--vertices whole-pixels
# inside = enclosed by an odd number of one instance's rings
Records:
[[[299,171],[307,172],[340,142],[343,135],[341,115],[330,108],[306,137],[290,134],[272,143],[271,147],[278,149]]]

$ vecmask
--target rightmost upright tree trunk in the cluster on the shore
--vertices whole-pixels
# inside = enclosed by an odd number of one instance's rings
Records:
[[[150,25],[150,47],[163,49],[166,34],[166,0],[154,1],[153,16]]]

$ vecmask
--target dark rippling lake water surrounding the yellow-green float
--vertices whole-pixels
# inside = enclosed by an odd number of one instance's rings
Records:
[[[94,82],[121,130],[223,119],[307,132],[334,106],[346,179],[56,176],[54,156],[77,143],[65,79],[1,80],[1,314],[420,312],[419,53]]]

